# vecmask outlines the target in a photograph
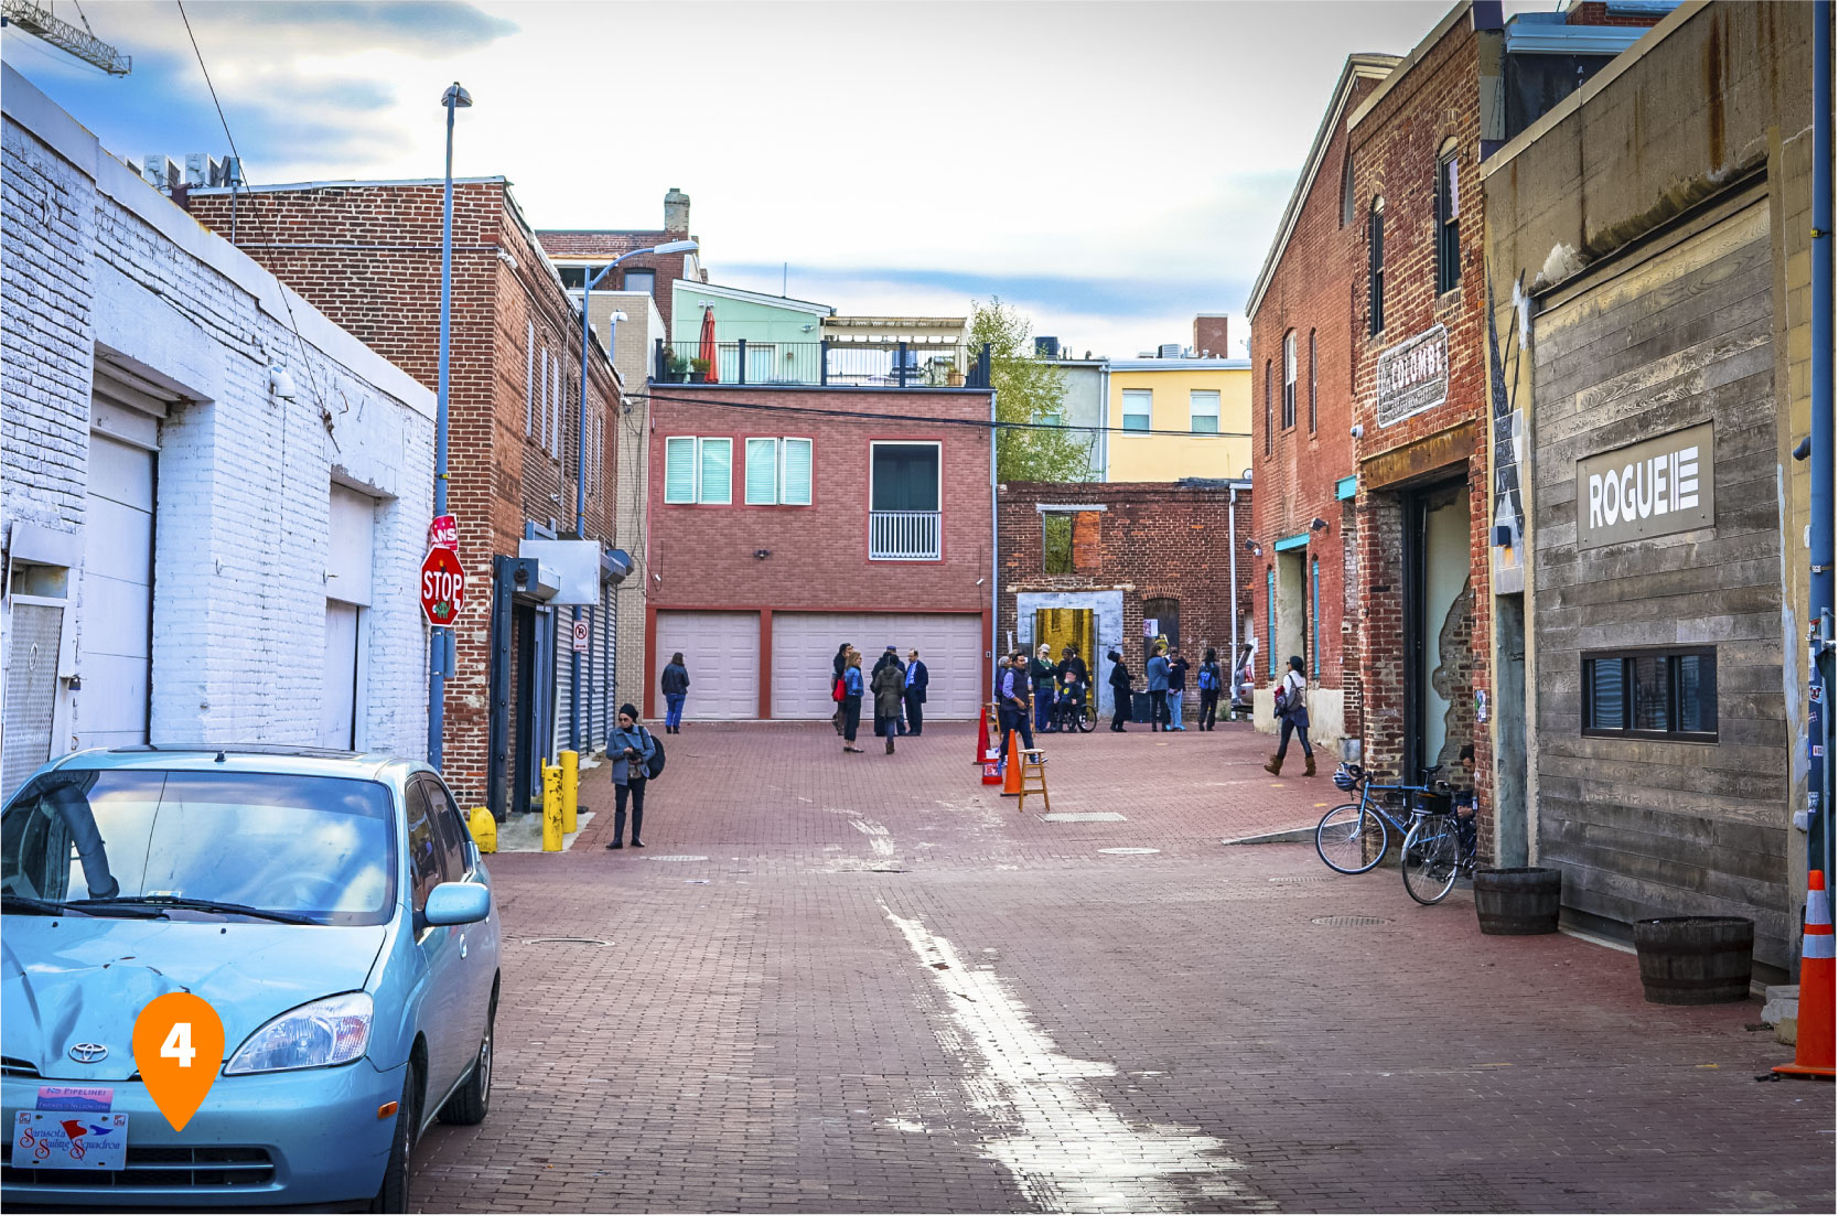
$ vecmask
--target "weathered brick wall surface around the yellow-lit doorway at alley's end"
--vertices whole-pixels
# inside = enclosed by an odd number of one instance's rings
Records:
[[[1074,572],[1048,574],[1037,506],[1103,506],[1081,515],[1074,532]],[[1015,631],[1015,594],[1041,590],[1124,592],[1124,658],[1142,679],[1144,600],[1181,601],[1181,651],[1197,666],[1206,647],[1232,660],[1232,567],[1228,555],[1232,495],[1223,487],[1160,482],[1046,484],[1010,482],[997,489],[1000,550],[1000,607],[997,636]],[[1239,636],[1251,611],[1249,589],[1256,559],[1247,552],[1251,506],[1239,493]],[[1021,635],[1017,633],[1017,640]],[[1102,660],[1089,660],[1102,662]],[[1100,671],[1098,679],[1103,675]]]

